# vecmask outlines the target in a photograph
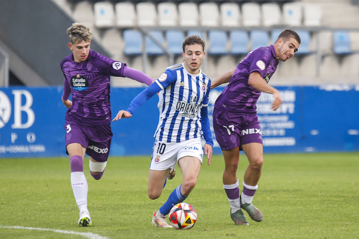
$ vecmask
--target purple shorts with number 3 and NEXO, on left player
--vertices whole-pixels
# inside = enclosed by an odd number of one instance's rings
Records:
[[[112,139],[111,124],[99,126],[81,125],[75,121],[66,120],[65,145],[79,143],[86,148],[86,153],[98,162],[105,162],[110,152]],[[66,150],[66,154],[69,154]]]

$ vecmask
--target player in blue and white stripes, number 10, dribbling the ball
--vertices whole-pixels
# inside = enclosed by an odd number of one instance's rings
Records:
[[[213,140],[207,114],[211,80],[200,69],[205,56],[204,45],[198,36],[187,37],[182,44],[183,63],[168,67],[155,83],[131,101],[127,110],[120,110],[113,119],[130,118],[138,107],[159,92],[160,115],[148,178],[149,198],[154,200],[161,195],[176,162],[181,167],[183,179],[154,213],[152,223],[155,226],[172,227],[165,215],[173,205],[183,202],[195,187],[203,157],[202,135],[206,140],[204,153],[208,165],[211,163]]]

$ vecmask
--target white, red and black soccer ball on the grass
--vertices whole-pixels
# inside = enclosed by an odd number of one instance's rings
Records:
[[[174,205],[169,211],[169,222],[176,229],[191,229],[196,221],[196,210],[186,202]]]

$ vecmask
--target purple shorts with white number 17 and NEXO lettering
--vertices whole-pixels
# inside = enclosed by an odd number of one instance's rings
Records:
[[[233,149],[242,144],[261,143],[262,133],[257,115],[233,114],[213,109],[213,128],[222,150]]]

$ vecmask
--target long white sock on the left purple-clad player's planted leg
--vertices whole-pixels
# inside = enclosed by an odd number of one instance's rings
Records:
[[[84,172],[71,172],[70,178],[77,206],[87,208],[88,184]]]

